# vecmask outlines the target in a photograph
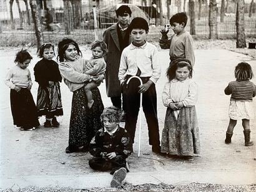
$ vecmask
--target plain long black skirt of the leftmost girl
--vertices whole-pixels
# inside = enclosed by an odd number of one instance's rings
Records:
[[[11,89],[11,112],[13,124],[17,127],[32,128],[40,125],[37,108],[30,90],[22,88],[19,92]]]

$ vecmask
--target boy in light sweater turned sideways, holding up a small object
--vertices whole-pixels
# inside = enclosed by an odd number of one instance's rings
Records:
[[[170,18],[170,27],[174,34],[168,39],[167,33],[169,30],[162,29],[162,38],[159,41],[162,49],[170,49],[170,62],[177,57],[184,57],[190,60],[192,67],[195,64],[194,43],[189,32],[185,31],[187,25],[187,14],[185,12],[178,12]]]

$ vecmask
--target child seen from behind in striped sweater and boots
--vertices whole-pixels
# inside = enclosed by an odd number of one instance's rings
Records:
[[[227,128],[225,143],[231,143],[231,137],[237,120],[242,119],[244,127],[245,146],[254,145],[250,142],[250,119],[254,117],[252,98],[256,95],[256,88],[250,79],[254,74],[252,67],[246,62],[241,62],[235,67],[235,78],[225,88],[225,94],[231,95],[229,105],[229,127]]]

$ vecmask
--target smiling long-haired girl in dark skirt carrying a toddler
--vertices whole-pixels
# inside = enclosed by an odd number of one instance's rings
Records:
[[[102,127],[101,113],[104,109],[101,94],[96,87],[91,90],[94,98],[92,108],[87,107],[87,97],[84,85],[90,80],[101,82],[104,74],[92,76],[83,74],[88,60],[82,59],[82,53],[77,42],[72,39],[62,39],[58,44],[59,70],[69,90],[73,92],[71,118],[69,123],[69,146],[66,153],[89,150],[89,143],[99,128]]]

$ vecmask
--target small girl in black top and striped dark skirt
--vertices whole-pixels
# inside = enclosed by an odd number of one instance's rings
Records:
[[[56,117],[63,115],[61,103],[61,74],[59,65],[52,60],[54,45],[42,44],[38,56],[42,58],[34,67],[34,75],[39,87],[37,91],[38,116],[46,115],[44,127],[59,127]]]

